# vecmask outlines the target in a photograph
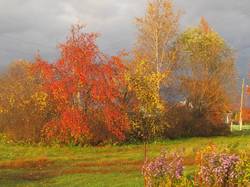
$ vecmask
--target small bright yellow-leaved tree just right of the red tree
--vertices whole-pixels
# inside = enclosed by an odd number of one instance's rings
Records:
[[[129,92],[134,96],[130,117],[131,130],[136,138],[148,140],[161,133],[159,116],[163,111],[163,102],[159,96],[158,83],[165,76],[164,73],[151,71],[151,64],[145,61],[130,64],[126,78]]]

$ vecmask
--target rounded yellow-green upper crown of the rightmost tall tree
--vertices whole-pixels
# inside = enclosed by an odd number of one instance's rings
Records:
[[[214,68],[213,64],[223,58],[223,54],[230,48],[224,39],[206,24],[202,23],[202,26],[187,29],[179,41],[186,54],[183,58],[190,59],[192,64],[199,64],[210,71]]]

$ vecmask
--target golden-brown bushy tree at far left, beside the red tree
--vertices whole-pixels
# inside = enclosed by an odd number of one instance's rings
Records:
[[[51,106],[32,64],[16,61],[0,77],[0,129],[15,140],[40,141]]]

